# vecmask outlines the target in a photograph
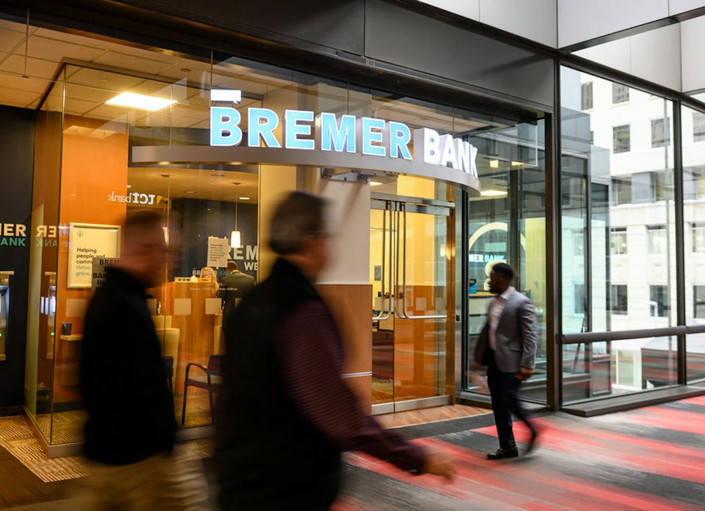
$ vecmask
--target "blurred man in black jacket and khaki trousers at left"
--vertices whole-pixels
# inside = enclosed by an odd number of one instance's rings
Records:
[[[84,509],[202,509],[202,474],[171,454],[176,421],[145,289],[167,264],[163,216],[128,215],[121,264],[86,312],[80,387],[92,476]],[[172,236],[173,238],[173,236]]]

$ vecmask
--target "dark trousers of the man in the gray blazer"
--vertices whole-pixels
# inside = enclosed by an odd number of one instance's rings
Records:
[[[524,422],[530,431],[534,432],[534,426],[529,422],[527,413],[522,408],[519,400],[519,386],[522,381],[515,373],[503,373],[497,369],[494,361],[494,350],[491,350],[487,367],[487,386],[492,398],[492,412],[494,412],[494,422],[497,426],[497,436],[499,446],[503,449],[515,449],[517,444],[514,441],[512,431],[512,414],[517,419]]]

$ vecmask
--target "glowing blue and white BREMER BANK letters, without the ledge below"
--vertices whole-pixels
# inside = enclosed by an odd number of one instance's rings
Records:
[[[213,90],[212,101],[240,101],[236,90]],[[309,110],[286,110],[284,118],[271,109],[247,109],[247,133],[240,128],[242,115],[231,106],[211,107],[210,144],[216,147],[268,147],[332,153],[357,153],[364,156],[389,157],[424,164],[454,168],[477,178],[477,148],[452,135],[441,135],[430,128],[413,131],[397,121],[337,115]],[[281,139],[275,132],[281,126]],[[246,135],[246,136],[245,136]],[[413,156],[412,156],[413,152]]]

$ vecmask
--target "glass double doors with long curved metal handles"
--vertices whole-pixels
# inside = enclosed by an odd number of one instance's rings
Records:
[[[452,393],[453,207],[437,202],[372,200],[373,413],[443,405]]]

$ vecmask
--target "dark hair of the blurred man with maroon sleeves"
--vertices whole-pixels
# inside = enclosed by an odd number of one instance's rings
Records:
[[[291,192],[274,211],[269,246],[279,255],[300,252],[305,238],[324,233],[325,199],[306,192]]]

